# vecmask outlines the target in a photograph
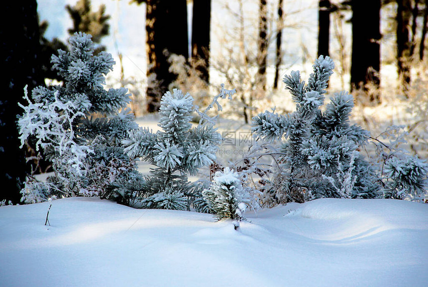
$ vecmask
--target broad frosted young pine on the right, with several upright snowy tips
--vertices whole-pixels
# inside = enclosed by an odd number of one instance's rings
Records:
[[[313,67],[308,84],[298,71],[284,78],[295,112],[283,116],[266,111],[252,119],[255,136],[281,142],[277,160],[281,164],[266,188],[279,191],[277,200],[285,202],[301,201],[303,192],[315,198],[376,197],[377,178],[358,152],[369,133],[349,123],[352,96],[336,93],[321,112],[334,63],[320,56]]]

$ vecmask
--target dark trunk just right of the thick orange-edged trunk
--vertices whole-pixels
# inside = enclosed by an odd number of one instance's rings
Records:
[[[210,82],[211,0],[193,0],[192,58],[202,61],[196,69],[207,84]]]

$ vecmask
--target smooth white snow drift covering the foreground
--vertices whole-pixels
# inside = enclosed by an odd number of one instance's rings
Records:
[[[99,198],[0,207],[0,286],[422,287],[428,204],[318,199],[234,230],[210,214]]]

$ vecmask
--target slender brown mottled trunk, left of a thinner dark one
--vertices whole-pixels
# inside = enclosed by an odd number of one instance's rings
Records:
[[[266,0],[260,0],[259,3],[259,39],[257,51],[257,86],[266,90],[266,65],[267,65],[267,3]]]

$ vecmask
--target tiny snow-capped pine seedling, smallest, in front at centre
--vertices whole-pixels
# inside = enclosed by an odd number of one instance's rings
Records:
[[[242,187],[239,174],[229,167],[216,171],[210,188],[202,192],[210,213],[218,220],[244,218],[246,208],[251,204],[250,194]]]

